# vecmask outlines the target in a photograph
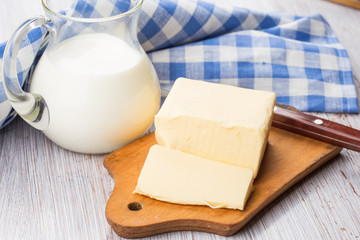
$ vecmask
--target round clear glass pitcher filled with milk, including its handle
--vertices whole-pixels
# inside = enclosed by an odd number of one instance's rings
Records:
[[[5,49],[4,87],[15,111],[75,152],[110,152],[142,136],[160,105],[157,75],[137,39],[142,2],[43,0],[46,17],[25,22]],[[45,29],[45,51],[25,92],[17,53],[35,28]]]

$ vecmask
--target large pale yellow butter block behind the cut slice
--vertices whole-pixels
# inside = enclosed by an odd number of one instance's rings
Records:
[[[158,144],[249,168],[256,177],[275,93],[179,78],[155,117]]]

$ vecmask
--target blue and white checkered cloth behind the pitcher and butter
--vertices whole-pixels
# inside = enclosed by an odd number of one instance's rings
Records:
[[[99,17],[126,7],[107,1],[79,1],[72,14]],[[39,29],[23,42],[21,81],[42,37]],[[261,13],[206,1],[146,0],[138,37],[155,66],[163,96],[178,77],[187,77],[274,91],[278,102],[301,111],[358,112],[349,56],[320,15]],[[3,51],[4,44],[1,58]],[[0,127],[14,116],[0,84]]]

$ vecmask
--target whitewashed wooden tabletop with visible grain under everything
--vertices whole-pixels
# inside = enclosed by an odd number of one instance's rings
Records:
[[[359,95],[360,11],[321,0],[236,1],[261,11],[321,13],[349,51]],[[40,0],[0,0],[0,42],[38,14]],[[360,129],[359,115],[318,115]],[[104,156],[63,150],[19,118],[0,130],[0,239],[120,239],[104,213],[113,189]],[[225,238],[184,231],[151,239]],[[228,239],[360,240],[360,154],[344,149]]]

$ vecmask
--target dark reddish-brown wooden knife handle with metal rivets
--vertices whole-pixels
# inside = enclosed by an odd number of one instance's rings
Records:
[[[360,152],[360,131],[323,118],[276,105],[272,125]]]

